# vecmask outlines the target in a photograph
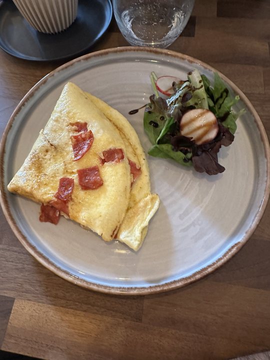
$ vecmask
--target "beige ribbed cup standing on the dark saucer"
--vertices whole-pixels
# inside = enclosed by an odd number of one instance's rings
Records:
[[[78,0],[13,0],[22,16],[37,31],[56,33],[75,20]]]

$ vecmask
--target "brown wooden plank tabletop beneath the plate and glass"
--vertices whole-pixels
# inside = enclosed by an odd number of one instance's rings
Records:
[[[169,48],[235,82],[269,135],[269,41],[269,0],[196,0]],[[91,50],[122,45],[112,21]],[[22,96],[61,63],[0,51],[1,133]],[[138,297],[87,291],[54,275],[27,253],[1,212],[0,349],[52,360],[216,360],[269,350],[269,205],[251,238],[221,268],[178,290]]]

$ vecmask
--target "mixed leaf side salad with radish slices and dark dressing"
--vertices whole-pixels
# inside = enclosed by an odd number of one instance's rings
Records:
[[[221,145],[228,146],[234,139],[235,121],[244,112],[232,109],[239,96],[231,96],[217,73],[211,85],[197,69],[188,72],[186,80],[157,78],[154,72],[150,79],[154,94],[143,116],[144,131],[152,144],[148,154],[193,165],[209,175],[223,172],[217,153]],[[170,79],[171,85],[164,88]],[[168,97],[160,96],[160,91]]]

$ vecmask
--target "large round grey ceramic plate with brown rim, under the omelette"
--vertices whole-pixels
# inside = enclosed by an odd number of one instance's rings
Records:
[[[237,121],[234,142],[218,154],[226,170],[209,176],[148,156],[152,191],[161,201],[138,252],[117,241],[106,243],[65,218],[57,226],[41,223],[38,204],[6,190],[68,80],[123,113],[147,152],[150,144],[143,132],[143,110],[135,115],[128,111],[148,102],[151,71],[185,78],[193,68],[212,80],[213,68],[186,55],[120,47],[60,66],[25,95],[1,142],[1,204],[21,243],[44,266],[87,288],[146,294],[201,278],[245,243],[269,195],[269,144],[254,108],[223,75],[231,91],[240,95],[236,109],[246,109]]]

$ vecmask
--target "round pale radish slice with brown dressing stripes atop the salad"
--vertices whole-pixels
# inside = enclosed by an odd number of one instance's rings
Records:
[[[192,109],[185,112],[180,122],[180,133],[192,137],[197,145],[209,142],[218,132],[218,123],[210,110]]]

